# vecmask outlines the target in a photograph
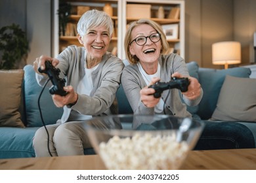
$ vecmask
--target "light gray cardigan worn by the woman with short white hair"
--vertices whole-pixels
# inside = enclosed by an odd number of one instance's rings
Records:
[[[85,75],[85,48],[78,46],[68,46],[61,52],[57,59],[60,63],[60,78],[66,77],[66,86],[73,86],[77,90],[79,81]],[[104,54],[97,69],[93,71],[93,91],[90,96],[78,93],[78,100],[72,107],[64,106],[64,112],[60,121],[67,122],[71,110],[76,110],[80,114],[102,116],[117,114],[116,92],[120,84],[120,76],[124,64],[121,59],[113,56],[110,52]],[[37,82],[43,86],[47,77],[37,75]]]

